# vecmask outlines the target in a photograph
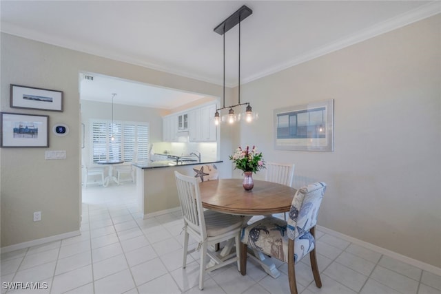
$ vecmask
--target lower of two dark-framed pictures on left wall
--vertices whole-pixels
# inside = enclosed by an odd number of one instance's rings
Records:
[[[49,116],[0,112],[0,147],[49,147]]]

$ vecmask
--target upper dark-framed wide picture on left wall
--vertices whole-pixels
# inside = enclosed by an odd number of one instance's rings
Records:
[[[63,112],[63,91],[11,84],[10,107]]]

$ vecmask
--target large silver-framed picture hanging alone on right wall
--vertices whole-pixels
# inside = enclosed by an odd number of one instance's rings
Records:
[[[274,109],[274,149],[334,151],[334,99]]]

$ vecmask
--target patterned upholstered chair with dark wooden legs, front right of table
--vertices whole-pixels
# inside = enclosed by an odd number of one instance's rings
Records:
[[[289,288],[297,294],[295,264],[309,253],[318,288],[322,287],[316,258],[317,215],[326,190],[324,182],[298,189],[291,202],[287,222],[272,216],[258,220],[240,233],[240,273],[247,272],[247,247],[288,264]]]

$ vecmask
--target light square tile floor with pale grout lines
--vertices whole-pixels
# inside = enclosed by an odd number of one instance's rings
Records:
[[[1,254],[1,293],[200,293],[198,253],[181,268],[181,213],[143,220],[135,185],[83,189],[81,235]],[[194,245],[194,244],[193,244]],[[302,294],[441,294],[441,277],[332,235],[317,233],[322,288],[309,258],[296,265]],[[203,293],[289,293],[287,265],[274,279],[251,260],[208,273]],[[4,282],[43,282],[47,290],[7,290]],[[24,284],[23,284],[24,285]]]

